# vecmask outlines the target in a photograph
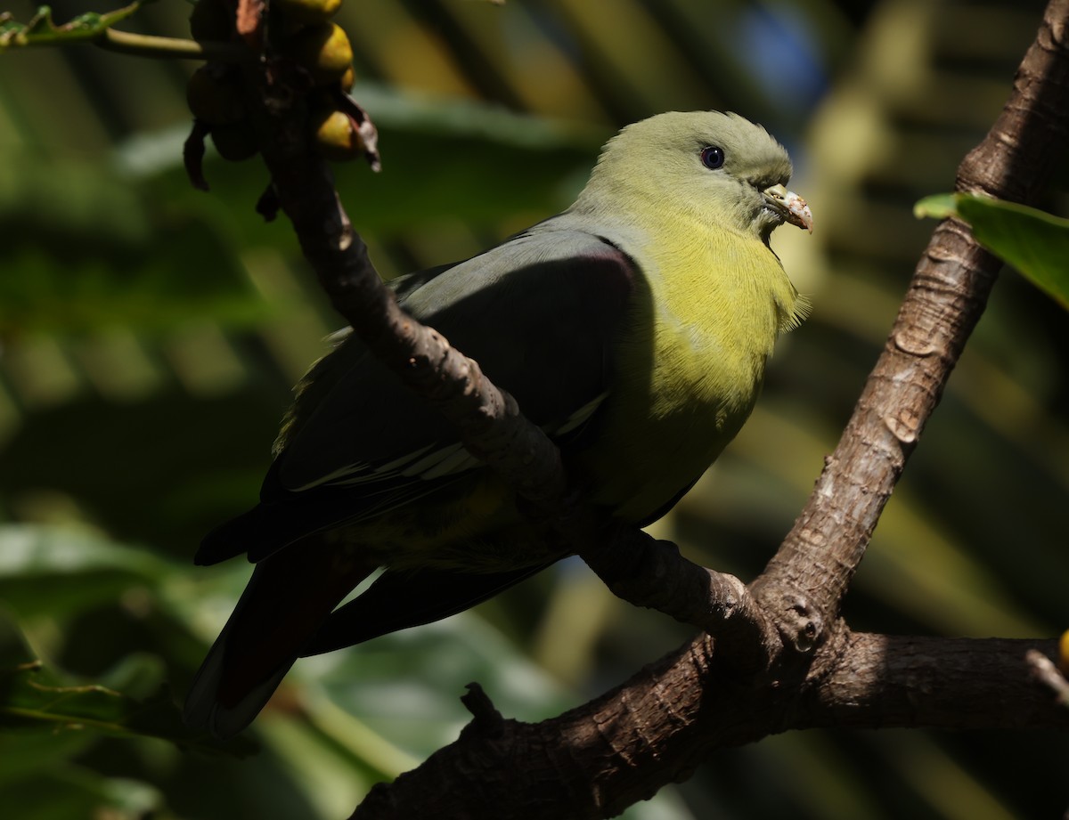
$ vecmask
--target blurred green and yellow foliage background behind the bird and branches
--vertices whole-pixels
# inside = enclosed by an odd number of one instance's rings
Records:
[[[394,275],[559,210],[625,122],[718,108],[781,139],[816,233],[774,243],[815,312],[738,441],[655,525],[752,578],[885,342],[930,231],[913,203],[950,188],[1042,5],[348,0],[338,20],[384,170],[338,167],[339,188]],[[124,27],[184,36],[188,10],[164,0]],[[86,11],[63,0],[55,18]],[[165,684],[181,699],[249,571],[189,557],[254,500],[290,385],[337,326],[291,231],[253,211],[257,161],[210,157],[207,195],[186,183],[195,67],[88,46],[0,58],[0,667],[16,669],[0,685],[103,698],[37,729],[0,721],[5,816],[344,817],[455,737],[469,680],[539,720],[690,634],[563,562],[475,612],[301,662],[243,759],[180,747],[166,721],[171,740],[78,720],[166,715]],[[1063,169],[1042,207],[1066,214],[1066,189]],[[855,579],[856,628],[1065,629],[1066,327],[1029,286],[1000,283]],[[1052,817],[1067,753],[1039,734],[794,732],[715,753],[628,817]]]

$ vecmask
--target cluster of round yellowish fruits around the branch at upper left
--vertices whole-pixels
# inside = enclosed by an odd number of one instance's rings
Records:
[[[341,0],[272,0],[270,30],[284,59],[299,66],[314,90],[309,96],[309,127],[328,159],[345,160],[365,151],[357,123],[346,112],[344,94],[352,88],[353,48],[345,31],[330,22]],[[198,0],[189,29],[198,42],[238,38],[236,0]],[[257,140],[245,111],[241,72],[235,65],[208,62],[186,86],[193,117],[208,131],[220,156],[248,159]]]

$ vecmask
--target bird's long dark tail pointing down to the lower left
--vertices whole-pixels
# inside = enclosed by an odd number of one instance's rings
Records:
[[[335,606],[374,569],[358,550],[321,536],[261,561],[193,678],[186,723],[218,738],[248,726]]]

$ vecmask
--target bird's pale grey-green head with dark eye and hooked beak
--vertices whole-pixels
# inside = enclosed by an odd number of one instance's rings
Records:
[[[607,199],[632,210],[685,211],[766,242],[784,222],[812,232],[790,176],[787,151],[761,126],[739,114],[672,111],[609,140],[577,205]]]

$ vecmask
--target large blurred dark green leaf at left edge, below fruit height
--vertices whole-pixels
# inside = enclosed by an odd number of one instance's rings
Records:
[[[0,191],[0,333],[155,334],[190,317],[259,324],[268,313],[233,242],[204,217],[86,162],[12,157]],[[57,246],[55,237],[64,241]]]

